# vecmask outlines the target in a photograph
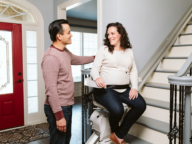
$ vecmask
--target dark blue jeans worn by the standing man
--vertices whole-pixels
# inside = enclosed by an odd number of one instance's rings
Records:
[[[69,144],[71,139],[72,106],[61,106],[66,119],[66,132],[57,129],[56,119],[49,105],[44,105],[45,115],[49,123],[50,144]]]

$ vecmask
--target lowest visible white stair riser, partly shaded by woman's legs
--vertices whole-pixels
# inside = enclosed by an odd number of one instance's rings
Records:
[[[134,124],[129,131],[129,134],[140,139],[146,140],[153,144],[168,144],[167,134],[147,128],[140,124]],[[177,143],[178,144],[178,143]]]

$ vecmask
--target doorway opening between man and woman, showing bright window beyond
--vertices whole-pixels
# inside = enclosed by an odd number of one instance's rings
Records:
[[[76,7],[67,8],[67,20],[71,27],[72,44],[67,48],[75,55],[93,56],[98,50],[97,0],[91,0]],[[75,83],[75,97],[81,96],[81,69],[91,68],[91,64],[72,66]]]

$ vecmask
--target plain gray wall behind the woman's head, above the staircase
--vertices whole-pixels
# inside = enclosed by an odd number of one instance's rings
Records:
[[[103,0],[102,30],[122,23],[129,35],[138,71],[192,5],[192,0]]]

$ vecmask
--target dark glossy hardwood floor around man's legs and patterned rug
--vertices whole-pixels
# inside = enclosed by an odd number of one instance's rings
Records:
[[[38,127],[49,132],[49,124],[39,124]],[[72,137],[70,144],[81,143],[81,97],[75,97],[75,104],[73,105],[72,116]],[[40,139],[37,141],[29,142],[27,144],[49,144],[49,138]]]

